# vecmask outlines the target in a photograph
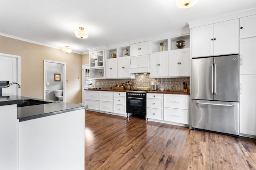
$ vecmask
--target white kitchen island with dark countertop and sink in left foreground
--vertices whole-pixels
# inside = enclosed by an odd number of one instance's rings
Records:
[[[39,104],[24,105],[35,101]],[[1,98],[0,169],[84,169],[85,108],[22,96]]]

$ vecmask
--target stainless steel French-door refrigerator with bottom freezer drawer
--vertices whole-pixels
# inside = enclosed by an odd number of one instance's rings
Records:
[[[192,129],[239,135],[239,55],[192,59]]]

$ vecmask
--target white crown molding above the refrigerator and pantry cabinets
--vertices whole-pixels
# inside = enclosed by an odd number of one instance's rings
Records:
[[[189,25],[189,28],[191,29],[194,27],[200,27],[200,26],[209,25],[212,23],[234,20],[237,18],[242,18],[242,17],[251,16],[255,14],[256,14],[256,8],[243,8],[240,10],[233,10],[230,12],[221,13],[221,14],[212,16],[210,18],[202,18],[200,20],[188,21],[187,23]]]

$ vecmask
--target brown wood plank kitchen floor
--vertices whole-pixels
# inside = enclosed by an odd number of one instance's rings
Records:
[[[85,113],[86,170],[255,170],[256,139]]]

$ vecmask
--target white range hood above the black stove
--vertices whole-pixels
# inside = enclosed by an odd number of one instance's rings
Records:
[[[131,57],[129,73],[149,73],[150,58],[149,55]]]

